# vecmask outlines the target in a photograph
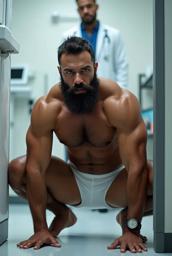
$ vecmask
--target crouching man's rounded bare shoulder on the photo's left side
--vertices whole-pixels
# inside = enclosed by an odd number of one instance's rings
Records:
[[[49,93],[38,98],[31,114],[31,126],[34,131],[53,130],[62,108],[58,85],[53,86]]]

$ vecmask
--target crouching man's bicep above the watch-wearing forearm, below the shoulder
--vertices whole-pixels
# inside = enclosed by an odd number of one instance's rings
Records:
[[[142,118],[132,131],[117,129],[117,138],[120,157],[127,171],[132,168],[142,168],[147,164],[147,130]]]

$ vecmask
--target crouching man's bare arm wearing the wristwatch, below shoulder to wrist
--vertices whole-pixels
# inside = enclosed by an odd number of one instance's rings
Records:
[[[127,219],[135,218],[141,222],[147,198],[147,130],[138,113],[137,120],[132,110],[128,112],[128,122],[119,124],[117,138],[120,157],[128,172],[127,179]],[[135,120],[134,120],[135,119]],[[125,123],[125,125],[124,125]],[[125,126],[125,127],[124,127]],[[128,228],[126,227],[126,231]],[[131,232],[131,229],[130,229]],[[140,231],[134,231],[140,233]]]

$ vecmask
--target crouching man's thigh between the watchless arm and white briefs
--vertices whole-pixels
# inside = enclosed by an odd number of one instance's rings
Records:
[[[46,186],[58,202],[79,205],[81,195],[74,174],[67,162],[52,157],[45,173]]]

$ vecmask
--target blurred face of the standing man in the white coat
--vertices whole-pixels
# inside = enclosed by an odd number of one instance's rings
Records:
[[[96,20],[98,5],[94,0],[78,0],[78,12],[85,25],[91,25]]]

